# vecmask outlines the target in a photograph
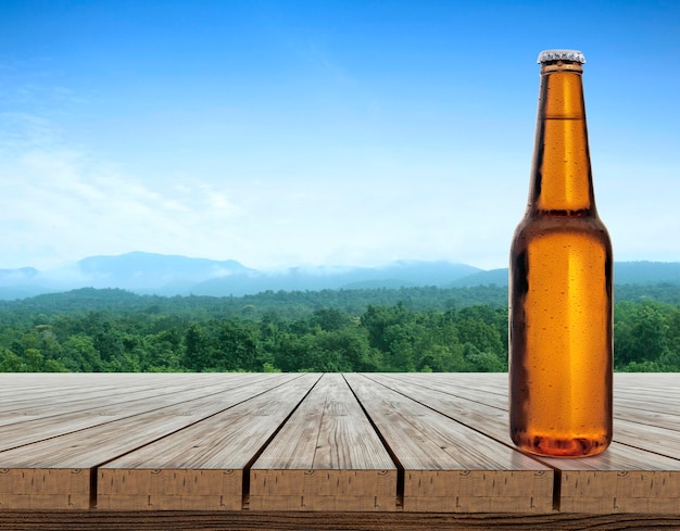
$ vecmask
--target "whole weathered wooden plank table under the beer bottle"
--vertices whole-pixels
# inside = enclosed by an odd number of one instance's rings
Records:
[[[0,375],[0,529],[680,529],[680,374],[615,375],[583,459],[513,447],[506,380]]]

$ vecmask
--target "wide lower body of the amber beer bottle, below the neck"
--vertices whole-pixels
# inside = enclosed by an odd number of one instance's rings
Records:
[[[612,278],[592,219],[544,218],[518,235],[511,301],[511,434],[549,456],[612,440]]]

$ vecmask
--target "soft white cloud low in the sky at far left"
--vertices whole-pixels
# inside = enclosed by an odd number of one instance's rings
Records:
[[[240,215],[212,186],[152,189],[74,152],[5,157],[0,172],[0,245],[14,257],[3,267],[135,250],[215,256]]]

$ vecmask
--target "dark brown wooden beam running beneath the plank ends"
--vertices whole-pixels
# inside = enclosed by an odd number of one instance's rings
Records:
[[[3,531],[621,531],[678,530],[670,515],[315,511],[0,511]]]

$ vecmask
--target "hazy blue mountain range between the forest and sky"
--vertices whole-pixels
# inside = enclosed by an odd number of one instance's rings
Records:
[[[619,285],[680,285],[680,263],[620,262]],[[276,271],[237,261],[133,252],[90,256],[51,270],[0,269],[0,300],[78,288],[119,288],[140,294],[240,296],[262,291],[318,291],[437,286],[507,285],[507,269],[484,270],[452,262],[398,261],[379,267],[299,266]]]

